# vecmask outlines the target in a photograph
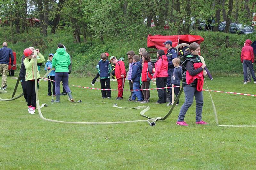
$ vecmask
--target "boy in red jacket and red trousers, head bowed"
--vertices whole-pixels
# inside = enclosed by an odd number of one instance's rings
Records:
[[[117,79],[117,88],[118,88],[118,95],[117,100],[123,99],[123,89],[124,89],[124,82],[126,78],[126,71],[125,71],[125,65],[122,60],[117,60],[116,57],[112,56],[110,57],[109,61],[113,64],[115,64],[115,76]]]

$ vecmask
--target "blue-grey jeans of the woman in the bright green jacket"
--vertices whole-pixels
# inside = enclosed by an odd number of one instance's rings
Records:
[[[60,95],[60,81],[63,83],[63,87],[66,92],[71,92],[68,87],[68,72],[55,73],[55,92],[56,95]]]

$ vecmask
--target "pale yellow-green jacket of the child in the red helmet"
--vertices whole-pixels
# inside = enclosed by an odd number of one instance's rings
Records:
[[[41,53],[37,53],[39,58],[37,57],[37,63],[43,63],[45,61],[44,56]],[[33,68],[34,68],[34,58],[31,58],[31,60],[29,60],[27,57],[24,59],[23,61],[25,68],[26,68],[26,76],[25,76],[25,80],[35,80],[34,78],[34,73],[33,73]],[[38,71],[38,67],[36,65],[36,70],[37,70],[37,78],[41,78],[39,71]]]

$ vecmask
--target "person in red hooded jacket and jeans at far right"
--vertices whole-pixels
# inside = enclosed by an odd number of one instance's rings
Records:
[[[253,70],[254,54],[253,48],[251,47],[252,41],[247,39],[245,41],[245,46],[242,48],[241,52],[241,62],[243,63],[244,70],[244,84],[247,84],[247,67],[249,67],[254,83],[256,83],[255,73]]]

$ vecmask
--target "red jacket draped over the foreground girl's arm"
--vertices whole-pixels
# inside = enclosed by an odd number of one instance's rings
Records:
[[[195,69],[198,69],[199,67],[201,67],[203,65],[203,63],[194,63],[193,65],[194,65]],[[193,83],[193,81],[196,78],[198,79],[197,80],[197,85],[196,85],[196,90],[201,92],[203,90],[203,85],[204,85],[204,73],[203,73],[203,71],[201,71],[199,74],[197,74],[195,76],[191,76],[189,74],[189,72],[186,71],[186,82],[187,82],[188,85]]]

